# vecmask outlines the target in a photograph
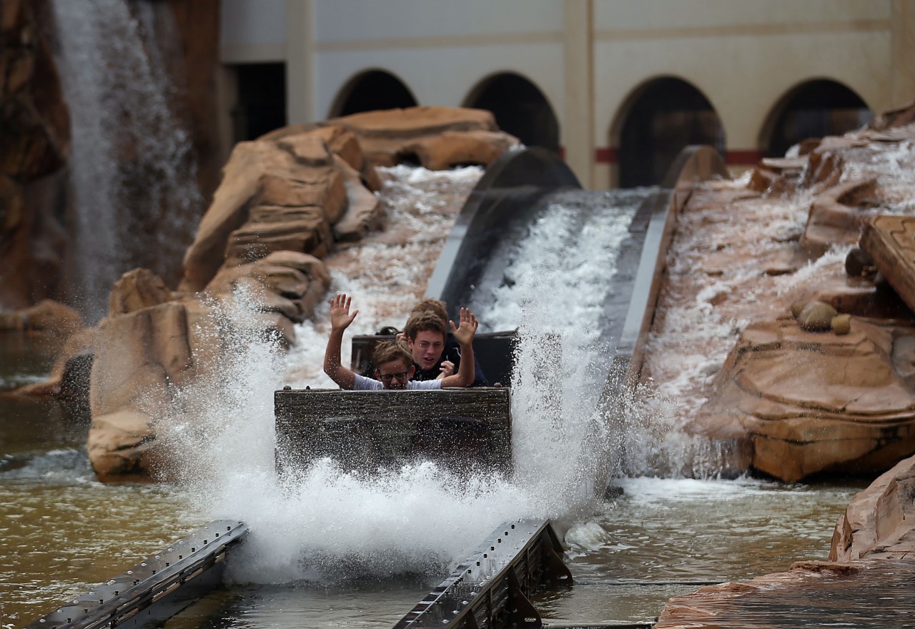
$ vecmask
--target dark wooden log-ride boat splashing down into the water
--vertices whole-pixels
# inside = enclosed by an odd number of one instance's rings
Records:
[[[352,368],[393,336],[353,339]],[[274,393],[277,469],[302,469],[324,457],[357,471],[434,461],[460,472],[511,469],[511,343],[514,333],[480,334],[474,351],[496,387]],[[490,360],[489,357],[492,357]],[[492,376],[490,376],[490,373]]]

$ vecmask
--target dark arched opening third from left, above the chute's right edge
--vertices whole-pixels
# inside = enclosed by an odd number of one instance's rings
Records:
[[[630,99],[619,133],[619,187],[660,184],[689,144],[725,152],[725,131],[712,104],[684,80],[652,80]]]

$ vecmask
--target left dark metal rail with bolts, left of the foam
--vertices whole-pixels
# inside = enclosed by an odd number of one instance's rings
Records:
[[[238,520],[210,522],[28,624],[26,629],[95,629],[161,623],[221,582],[227,550],[247,532],[247,526]]]

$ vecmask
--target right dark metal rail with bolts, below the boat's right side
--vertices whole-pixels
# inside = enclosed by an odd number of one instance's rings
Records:
[[[549,520],[502,524],[394,629],[541,627],[530,596],[572,584],[562,553]]]

